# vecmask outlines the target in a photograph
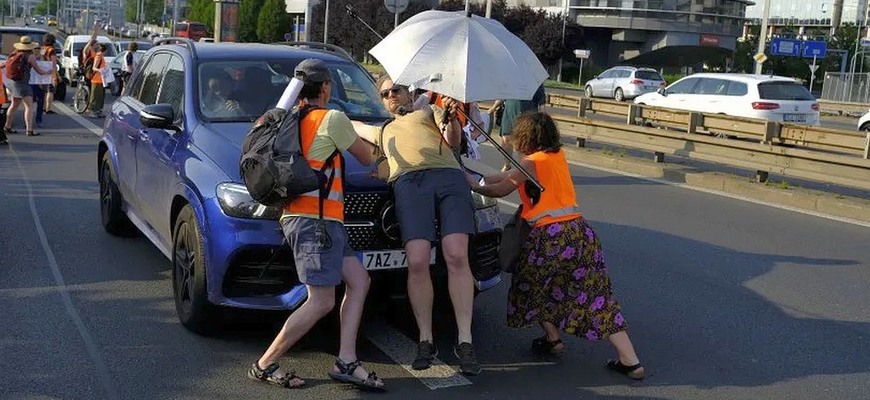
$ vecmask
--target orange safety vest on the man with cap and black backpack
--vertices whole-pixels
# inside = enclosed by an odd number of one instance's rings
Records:
[[[315,109],[308,112],[302,121],[299,121],[299,133],[301,140],[299,142],[302,147],[302,155],[308,161],[308,165],[312,169],[320,171],[323,168],[324,162],[312,160],[308,157],[311,151],[311,144],[314,143],[314,138],[317,136],[317,129],[326,117],[329,110]],[[342,182],[342,171],[344,163],[341,156],[336,156],[332,159],[332,165],[323,170],[327,177],[335,170],[335,177],[332,178],[332,187],[329,188],[329,193],[323,201],[323,217],[344,222],[344,182]],[[320,190],[312,190],[308,193],[299,195],[293,199],[285,208],[285,211],[293,215],[319,216],[320,215]]]

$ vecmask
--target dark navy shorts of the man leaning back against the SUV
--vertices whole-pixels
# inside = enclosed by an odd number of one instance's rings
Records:
[[[396,179],[396,217],[402,242],[426,239],[435,242],[435,223],[441,237],[475,232],[474,202],[465,173],[453,168],[408,172]]]

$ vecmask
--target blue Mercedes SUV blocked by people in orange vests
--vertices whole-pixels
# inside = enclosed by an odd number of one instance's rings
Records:
[[[281,210],[251,198],[239,158],[252,121],[274,107],[307,58],[330,66],[330,108],[371,125],[390,117],[372,76],[338,47],[171,38],[144,55],[106,118],[96,154],[103,226],[119,236],[141,232],[171,260],[176,310],[191,331],[208,333],[223,307],[294,310],[306,298],[281,246]],[[371,293],[404,297],[407,262],[390,188],[346,160],[345,225],[372,275]],[[483,291],[500,281],[501,224],[494,199],[474,198],[479,233],[469,252]],[[446,293],[439,251],[433,263]]]

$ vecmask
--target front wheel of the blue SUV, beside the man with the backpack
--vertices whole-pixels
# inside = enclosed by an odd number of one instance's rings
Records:
[[[215,306],[208,301],[205,251],[193,207],[181,209],[172,230],[172,292],[178,319],[189,331],[206,335],[216,325]]]

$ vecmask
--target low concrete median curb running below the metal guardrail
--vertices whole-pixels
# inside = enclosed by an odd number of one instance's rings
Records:
[[[568,161],[654,178],[677,185],[725,193],[761,203],[781,205],[839,220],[870,224],[870,199],[848,197],[787,184],[757,183],[748,177],[700,171],[678,164],[656,163],[628,155],[609,155],[602,150],[563,146]]]

